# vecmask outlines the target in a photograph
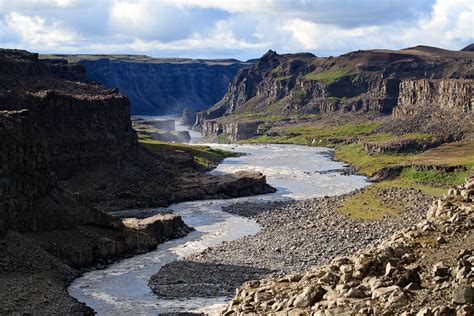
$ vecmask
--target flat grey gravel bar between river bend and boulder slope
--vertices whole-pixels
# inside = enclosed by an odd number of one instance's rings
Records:
[[[256,219],[263,226],[260,233],[166,265],[153,276],[150,286],[165,297],[233,295],[245,281],[302,272],[377,243],[420,221],[432,201],[412,189],[385,193],[387,203],[403,199],[411,206],[399,216],[369,221],[336,211],[351,194],[289,203],[236,204],[226,211]]]

